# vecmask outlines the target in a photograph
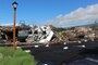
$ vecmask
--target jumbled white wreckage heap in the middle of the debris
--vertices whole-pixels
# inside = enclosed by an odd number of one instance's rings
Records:
[[[50,26],[35,27],[32,31],[32,35],[28,35],[26,39],[27,42],[45,43],[49,42],[53,37]]]

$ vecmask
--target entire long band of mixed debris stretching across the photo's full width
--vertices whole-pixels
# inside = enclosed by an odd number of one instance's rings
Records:
[[[7,40],[11,41],[13,38],[12,27],[0,26],[1,31]],[[98,39],[98,25],[77,26],[70,28],[58,28],[53,26],[16,26],[17,41],[24,40],[26,42],[62,42],[62,41],[79,41],[84,39]]]

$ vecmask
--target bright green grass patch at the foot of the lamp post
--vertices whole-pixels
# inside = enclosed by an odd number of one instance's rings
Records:
[[[0,48],[0,65],[36,65],[33,55],[22,49]]]

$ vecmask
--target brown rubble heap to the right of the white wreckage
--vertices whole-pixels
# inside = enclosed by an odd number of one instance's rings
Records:
[[[98,30],[94,30],[93,27],[74,27],[74,28],[53,28],[54,38],[51,40],[57,41],[78,41],[84,39],[98,39]]]

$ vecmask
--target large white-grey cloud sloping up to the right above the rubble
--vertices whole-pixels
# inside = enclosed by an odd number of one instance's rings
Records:
[[[78,8],[65,15],[60,14],[53,20],[48,21],[48,24],[64,26],[93,21],[98,21],[98,4],[88,5],[87,8]]]

